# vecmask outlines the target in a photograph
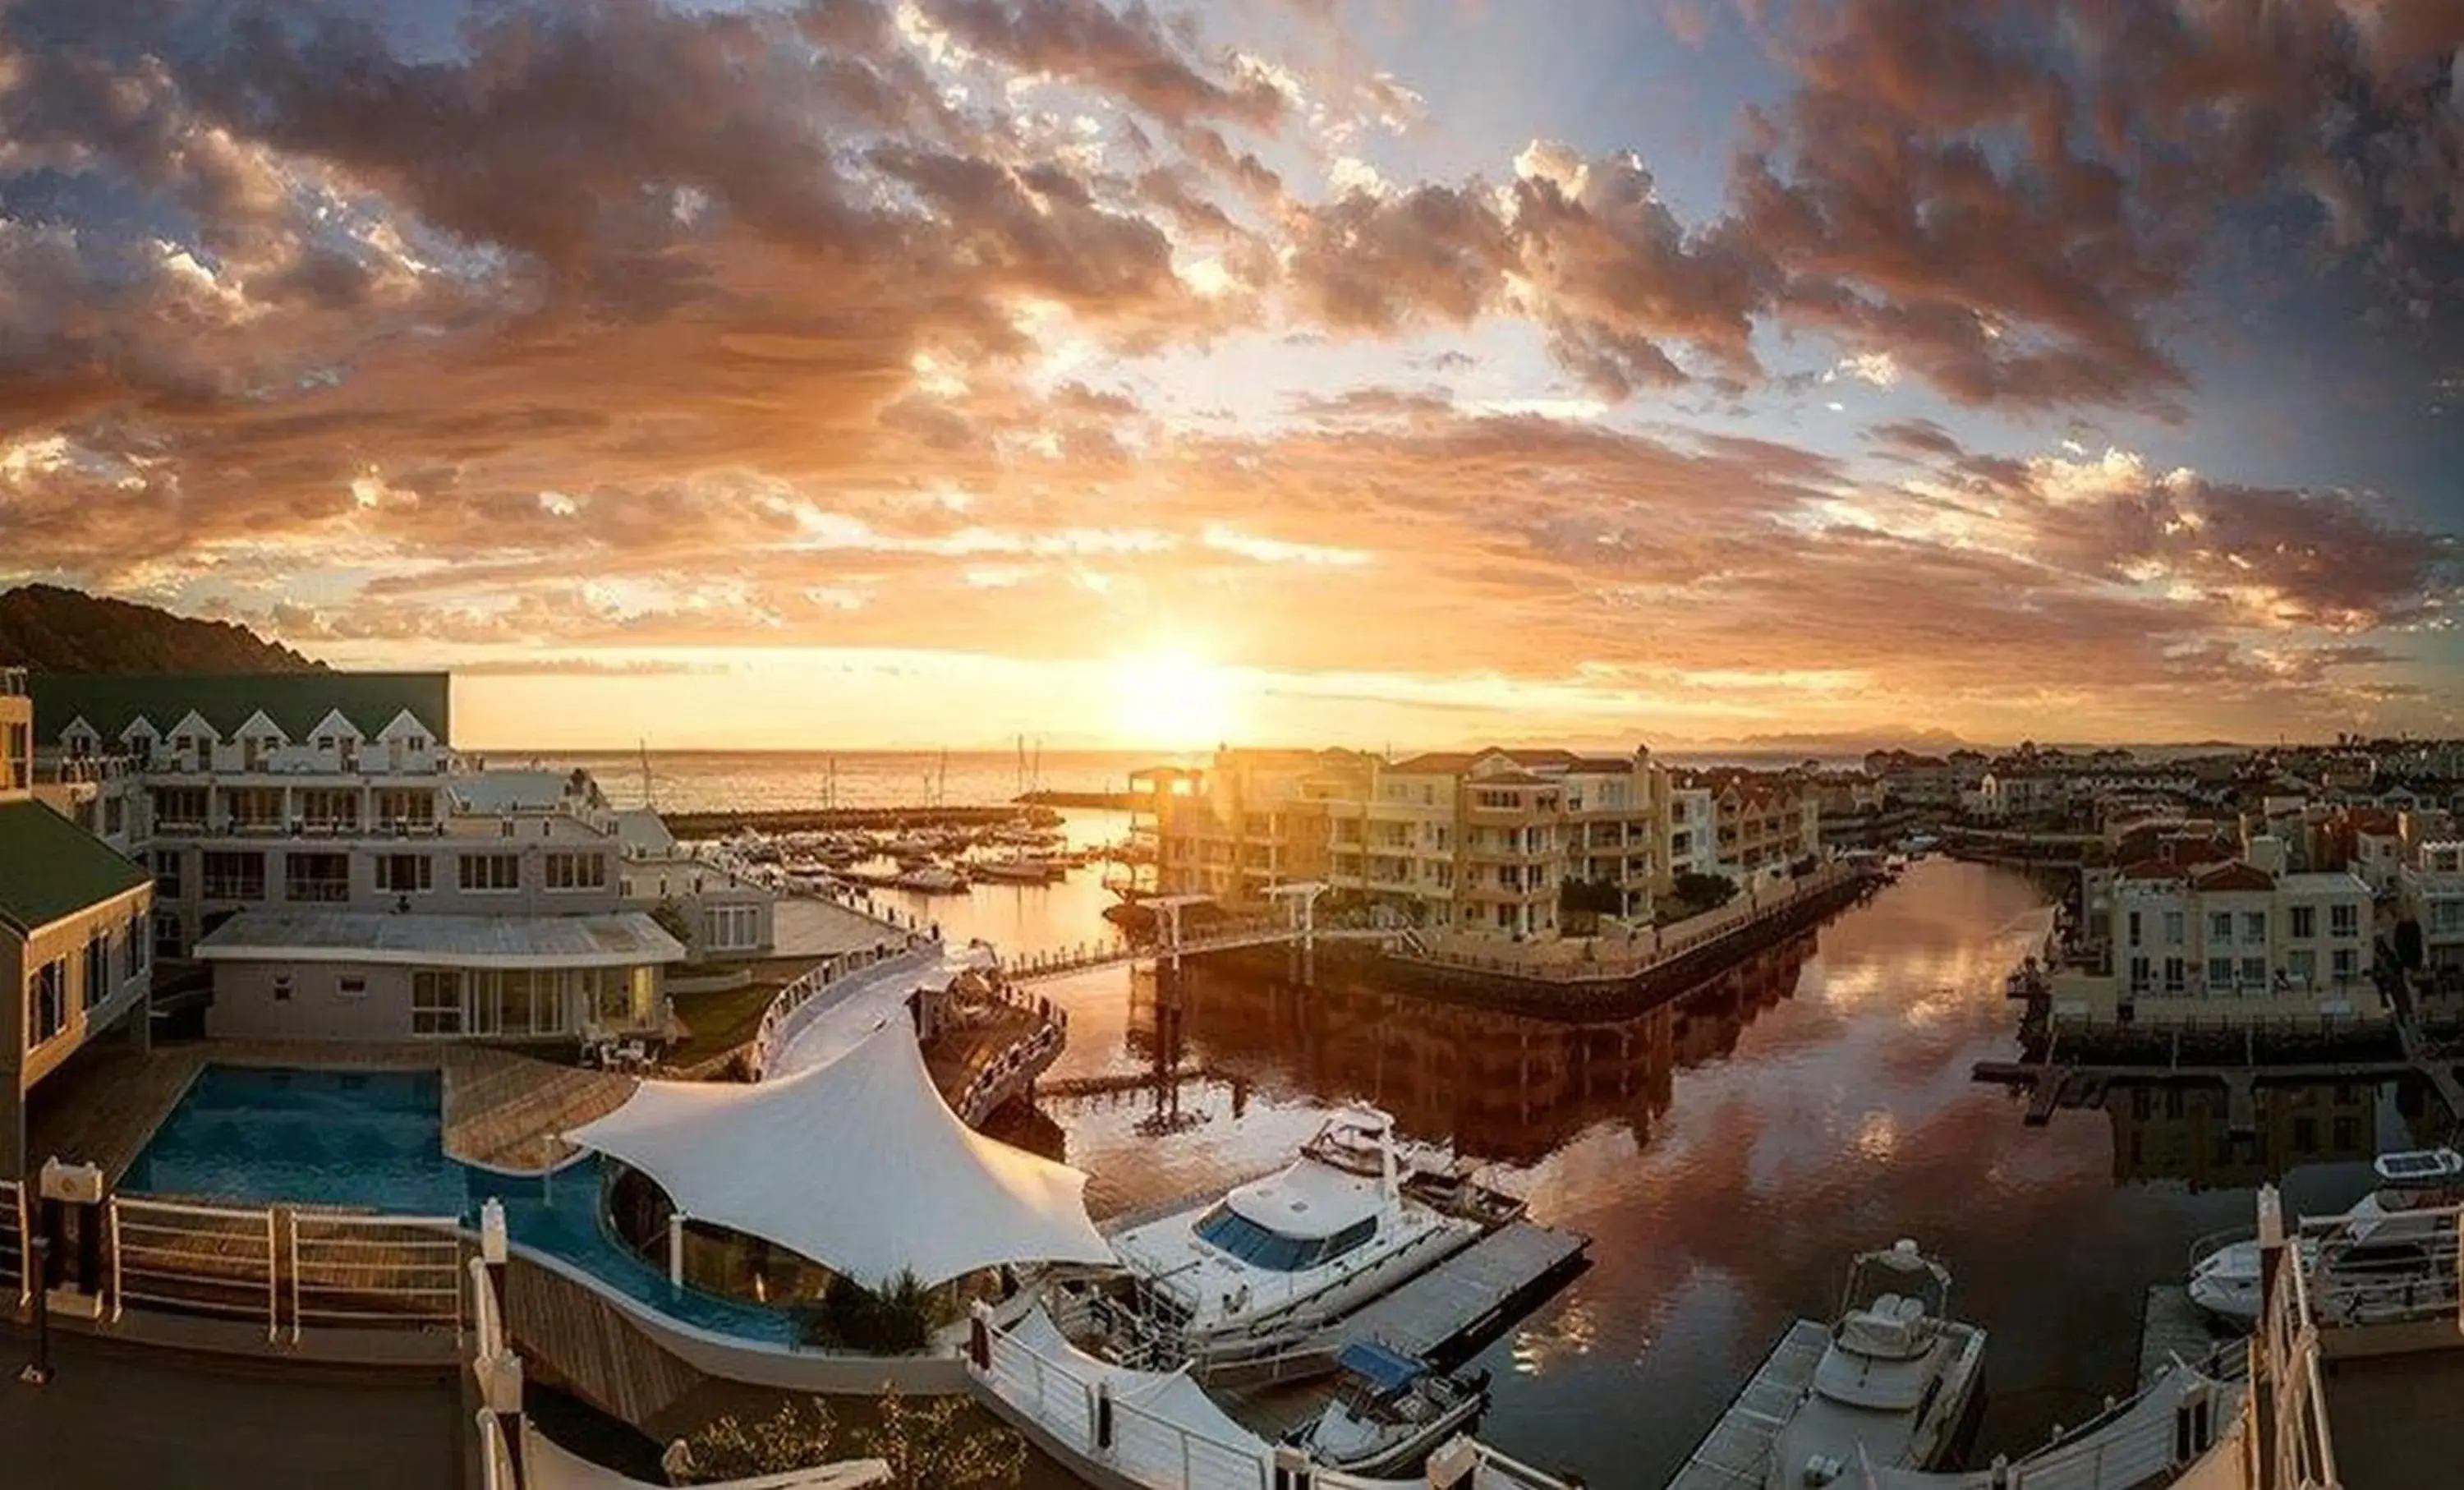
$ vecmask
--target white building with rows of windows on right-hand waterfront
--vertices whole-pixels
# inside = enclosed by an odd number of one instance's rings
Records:
[[[2114,879],[2112,906],[2112,973],[2060,975],[2057,1002],[2186,1002],[2208,1020],[2378,1007],[2370,887],[2353,874],[2134,864]]]

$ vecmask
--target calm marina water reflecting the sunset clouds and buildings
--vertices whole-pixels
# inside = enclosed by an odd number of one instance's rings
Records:
[[[1067,818],[1077,842],[1126,828]],[[1084,869],[890,904],[1025,953],[1106,936],[1111,896]],[[2343,1209],[2370,1153],[2444,1138],[2422,1093],[2328,1086],[2262,1089],[2255,1148],[2227,1143],[2220,1091],[2023,1126],[1969,1069],[2013,1052],[2003,975],[2050,916],[2020,872],[1927,860],[1683,997],[1582,1025],[1266,970],[1099,970],[1042,985],[1069,1007],[1050,1081],[1119,1091],[1050,1098],[1037,1128],[1094,1175],[1099,1214],[1274,1167],[1353,1098],[1496,1160],[1594,1261],[1478,1357],[1481,1436],[1592,1485],[1661,1485],[1786,1323],[1828,1318],[1850,1251],[1915,1236],[1991,1332],[1984,1463],[2134,1389],[2146,1288],[2247,1226],[2257,1182]]]

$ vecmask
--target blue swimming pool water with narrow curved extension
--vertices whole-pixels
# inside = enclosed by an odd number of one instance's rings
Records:
[[[569,1263],[653,1310],[737,1340],[793,1345],[776,1308],[675,1288],[599,1219],[599,1158],[549,1177],[476,1170],[444,1148],[434,1071],[207,1066],[128,1165],[121,1190],[224,1204],[342,1204],[478,1224],[505,1202],[517,1246]]]

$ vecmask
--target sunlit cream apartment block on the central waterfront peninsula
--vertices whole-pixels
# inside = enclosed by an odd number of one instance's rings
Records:
[[[1648,919],[1680,872],[1747,877],[1816,852],[1818,798],[1730,773],[1676,786],[1636,749],[1225,749],[1202,771],[1133,776],[1136,835],[1158,884],[1257,904],[1318,879],[1414,926],[1545,936],[1579,884]]]

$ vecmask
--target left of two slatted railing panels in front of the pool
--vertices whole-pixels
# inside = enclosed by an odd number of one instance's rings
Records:
[[[266,1320],[281,1335],[271,1209],[111,1197],[111,1318],[128,1303]]]

